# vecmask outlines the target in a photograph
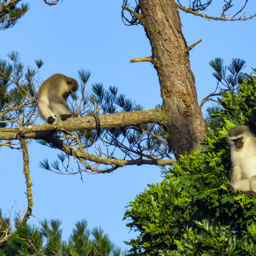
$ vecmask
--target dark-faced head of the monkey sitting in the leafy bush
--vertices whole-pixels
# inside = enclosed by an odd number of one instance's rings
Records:
[[[243,148],[244,142],[250,137],[252,137],[252,134],[249,128],[245,125],[239,125],[228,131],[227,139],[231,146],[234,145],[236,149],[240,150]]]

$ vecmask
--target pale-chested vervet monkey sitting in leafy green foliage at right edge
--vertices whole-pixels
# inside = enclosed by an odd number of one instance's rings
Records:
[[[239,125],[228,131],[232,162],[232,183],[226,187],[247,192],[246,195],[256,197],[256,138],[249,128]]]

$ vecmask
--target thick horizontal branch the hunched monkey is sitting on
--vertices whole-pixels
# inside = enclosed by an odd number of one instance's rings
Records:
[[[110,129],[139,124],[164,124],[164,115],[161,108],[139,110],[132,112],[120,112],[114,114],[98,115],[101,129]],[[57,119],[53,124],[38,124],[17,128],[0,128],[0,140],[18,140],[19,134],[24,138],[41,139],[49,133],[57,131],[76,131],[96,129],[95,119],[92,116],[68,118],[66,121]]]

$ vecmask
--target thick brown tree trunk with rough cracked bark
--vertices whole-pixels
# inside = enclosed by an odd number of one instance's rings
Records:
[[[206,135],[198,106],[195,78],[190,68],[188,45],[182,34],[174,0],[140,0],[142,25],[152,46],[166,111],[164,128],[170,134],[175,157],[200,147]]]

